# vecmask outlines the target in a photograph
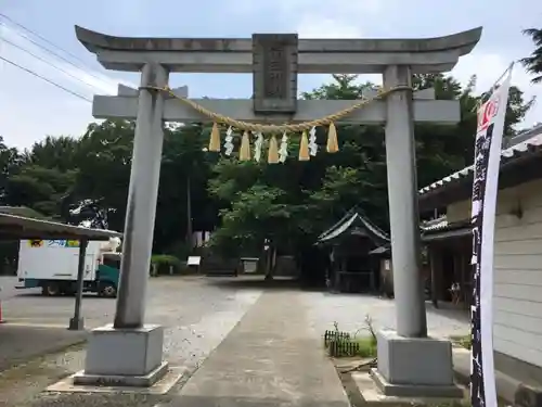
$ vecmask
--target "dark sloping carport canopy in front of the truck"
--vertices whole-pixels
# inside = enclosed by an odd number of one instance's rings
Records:
[[[56,221],[33,219],[0,213],[0,240],[101,240],[121,238],[122,233],[90,229],[82,226],[65,225]]]

